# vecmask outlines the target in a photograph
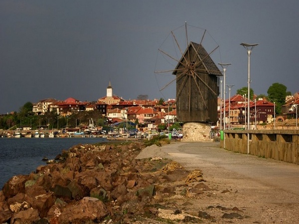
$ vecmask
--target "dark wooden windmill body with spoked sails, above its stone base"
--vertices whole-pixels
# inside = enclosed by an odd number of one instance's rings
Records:
[[[176,66],[172,69],[155,71],[155,74],[171,73],[175,76],[164,85],[163,91],[170,84],[176,83],[176,110],[177,119],[182,122],[216,122],[217,97],[219,95],[219,77],[221,71],[211,59],[210,55],[218,49],[215,47],[208,53],[203,47],[202,41],[206,30],[199,43],[188,41],[187,24],[185,23],[185,39],[187,46],[183,51],[174,32],[171,37],[174,46],[179,52],[177,56],[162,49],[158,49],[164,58],[172,60]]]

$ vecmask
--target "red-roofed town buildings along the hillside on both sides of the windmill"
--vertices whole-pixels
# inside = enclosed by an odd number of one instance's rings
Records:
[[[286,104],[282,106],[282,114],[276,117],[278,119],[295,118],[296,107],[299,105],[299,93],[286,98]],[[224,111],[225,108],[225,111]],[[250,122],[251,124],[267,124],[273,122],[275,117],[275,104],[266,99],[257,99],[250,101]],[[218,121],[216,126],[224,123],[227,128],[235,125],[244,125],[247,120],[248,99],[246,96],[235,95],[230,99],[221,100],[218,98]],[[111,83],[107,87],[105,97],[98,99],[97,102],[81,102],[74,98],[68,98],[65,101],[55,99],[45,99],[33,104],[35,114],[44,114],[46,112],[56,112],[61,116],[69,116],[74,112],[99,111],[107,117],[111,123],[121,122],[128,119],[132,122],[138,122],[146,126],[154,127],[161,123],[174,123],[176,119],[176,102],[174,99],[161,102],[160,100],[124,100],[121,97],[113,95]],[[225,112],[225,118],[224,118]],[[220,118],[222,122],[220,123]],[[225,122],[224,122],[225,121]]]

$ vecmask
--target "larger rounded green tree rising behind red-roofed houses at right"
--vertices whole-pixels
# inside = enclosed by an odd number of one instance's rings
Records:
[[[273,83],[272,86],[269,87],[268,98],[271,102],[275,102],[275,112],[281,113],[281,106],[286,102],[287,96],[287,87],[281,83]]]

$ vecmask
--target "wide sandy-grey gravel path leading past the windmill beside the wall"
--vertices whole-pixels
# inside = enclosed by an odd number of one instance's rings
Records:
[[[193,203],[196,209],[211,205],[238,207],[248,216],[242,223],[299,223],[298,165],[230,152],[219,148],[217,142],[175,142],[151,147],[140,156],[170,158],[186,169],[200,169],[210,188],[227,191],[215,191],[218,197],[202,197]]]

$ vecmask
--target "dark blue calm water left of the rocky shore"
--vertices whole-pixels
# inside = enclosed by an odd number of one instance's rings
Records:
[[[0,138],[0,189],[12,176],[29,174],[43,157],[54,159],[63,149],[80,143],[103,142],[101,138]]]

